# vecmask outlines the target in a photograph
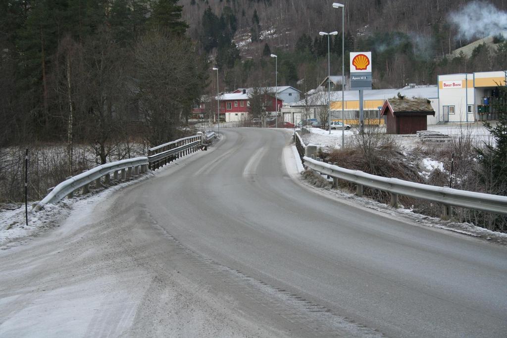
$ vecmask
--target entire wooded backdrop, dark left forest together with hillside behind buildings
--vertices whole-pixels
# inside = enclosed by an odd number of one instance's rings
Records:
[[[341,31],[341,10],[331,3],[2,2],[0,144],[64,141],[70,157],[74,142],[86,142],[105,161],[112,142],[134,136],[166,141],[188,119],[192,103],[216,91],[212,66],[220,68],[221,91],[273,85],[271,53],[278,55],[278,83],[306,92],[327,76],[327,37],[318,32]],[[501,34],[470,57],[451,55],[501,26],[507,0],[344,4],[345,62],[349,51],[371,50],[376,88],[507,68]],[[464,27],[463,17],[476,14],[490,23]],[[341,40],[341,34],[331,40],[333,74],[341,72]]]

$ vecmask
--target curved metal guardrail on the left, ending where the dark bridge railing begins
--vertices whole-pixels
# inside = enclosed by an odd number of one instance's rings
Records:
[[[134,159],[106,163],[86,170],[55,186],[42,201],[32,208],[32,212],[41,210],[48,203],[56,203],[65,196],[72,196],[80,188],[83,188],[83,193],[88,193],[89,184],[95,181],[96,185],[100,185],[100,179],[103,176],[105,176],[105,182],[107,183],[111,179],[111,174],[114,175],[115,179],[118,179],[119,171],[121,172],[122,179],[144,173],[148,170],[148,163],[147,157],[136,157]]]

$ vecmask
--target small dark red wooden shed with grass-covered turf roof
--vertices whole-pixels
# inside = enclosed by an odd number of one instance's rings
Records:
[[[428,128],[427,116],[435,116],[435,111],[428,99],[410,99],[398,94],[384,102],[380,114],[386,117],[388,134],[415,134]]]

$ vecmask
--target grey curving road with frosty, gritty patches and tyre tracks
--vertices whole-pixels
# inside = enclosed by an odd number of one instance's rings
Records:
[[[0,336],[507,335],[507,248],[316,194],[283,130],[0,253]]]

